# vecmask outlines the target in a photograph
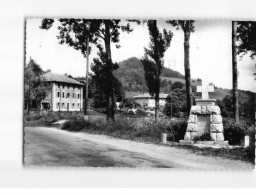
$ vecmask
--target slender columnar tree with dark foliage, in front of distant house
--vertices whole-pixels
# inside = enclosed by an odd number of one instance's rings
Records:
[[[141,60],[145,70],[145,80],[148,85],[149,93],[155,96],[155,118],[159,118],[159,92],[160,92],[160,74],[164,65],[164,53],[170,46],[173,37],[171,31],[163,29],[163,33],[159,32],[156,20],[147,22],[150,43],[149,48],[145,48],[145,56]]]

